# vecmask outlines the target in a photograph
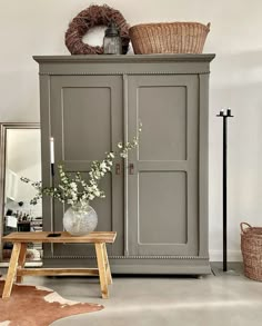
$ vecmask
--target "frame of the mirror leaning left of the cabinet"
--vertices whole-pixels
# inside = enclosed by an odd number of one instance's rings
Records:
[[[0,122],[0,263],[2,261],[2,234],[4,215],[6,192],[6,155],[7,155],[7,130],[8,129],[40,129],[38,122]]]

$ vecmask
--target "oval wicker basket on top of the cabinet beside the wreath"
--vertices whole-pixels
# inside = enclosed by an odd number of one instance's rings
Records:
[[[129,29],[135,55],[202,53],[210,23],[141,23]]]

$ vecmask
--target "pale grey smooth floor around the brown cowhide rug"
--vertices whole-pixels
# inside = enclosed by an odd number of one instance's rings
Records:
[[[114,276],[110,298],[100,299],[98,279],[27,277],[72,300],[99,303],[98,313],[71,316],[52,326],[261,326],[262,283],[238,274],[201,279],[172,276]],[[216,269],[218,271],[218,269]]]

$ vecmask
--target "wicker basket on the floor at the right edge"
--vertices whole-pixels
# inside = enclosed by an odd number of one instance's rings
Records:
[[[262,227],[241,223],[240,228],[244,275],[254,280],[262,280]]]

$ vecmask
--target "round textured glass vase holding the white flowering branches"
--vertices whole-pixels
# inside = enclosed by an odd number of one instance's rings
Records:
[[[95,229],[98,215],[89,204],[69,207],[63,216],[63,227],[72,236],[87,236]]]

